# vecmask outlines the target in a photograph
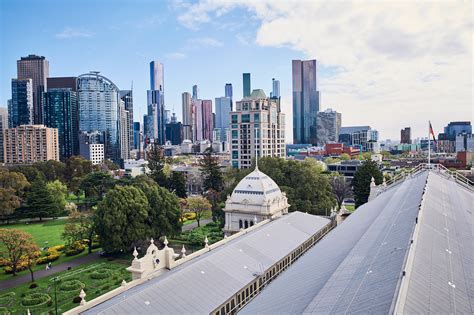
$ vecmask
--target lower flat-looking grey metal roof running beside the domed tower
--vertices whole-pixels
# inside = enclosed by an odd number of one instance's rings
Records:
[[[209,313],[328,223],[292,212],[83,314]]]

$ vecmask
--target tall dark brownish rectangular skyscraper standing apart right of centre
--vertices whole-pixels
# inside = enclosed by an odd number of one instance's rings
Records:
[[[316,60],[293,60],[293,143],[317,144]]]

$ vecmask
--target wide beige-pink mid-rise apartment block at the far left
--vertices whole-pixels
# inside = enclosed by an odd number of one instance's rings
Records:
[[[4,149],[7,164],[59,161],[58,129],[44,125],[21,125],[5,129]]]

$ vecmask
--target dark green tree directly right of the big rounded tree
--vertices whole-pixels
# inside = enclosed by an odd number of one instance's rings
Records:
[[[155,239],[174,236],[181,232],[181,211],[176,195],[158,186],[148,177],[140,177],[133,184],[145,194],[148,200],[147,224]]]

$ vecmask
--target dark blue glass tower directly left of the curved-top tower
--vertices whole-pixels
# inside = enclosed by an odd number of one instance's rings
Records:
[[[79,111],[77,92],[71,88],[48,88],[43,93],[43,121],[58,129],[59,158],[79,154]]]

